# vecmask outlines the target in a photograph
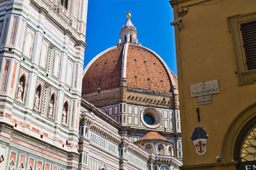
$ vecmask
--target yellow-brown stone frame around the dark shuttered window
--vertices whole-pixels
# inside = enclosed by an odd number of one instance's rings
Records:
[[[256,81],[256,69],[248,69],[246,66],[246,55],[243,47],[243,36],[240,30],[241,24],[256,20],[256,13],[239,14],[228,17],[228,29],[232,34],[234,52],[236,57],[237,75],[239,85],[246,85]]]

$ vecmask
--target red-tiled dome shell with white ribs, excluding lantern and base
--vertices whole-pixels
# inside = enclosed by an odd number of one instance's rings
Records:
[[[120,87],[172,92],[177,79],[157,53],[140,45],[114,46],[97,55],[84,69],[82,94]]]

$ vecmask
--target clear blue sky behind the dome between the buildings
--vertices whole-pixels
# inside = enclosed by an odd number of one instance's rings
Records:
[[[177,75],[174,28],[170,25],[173,9],[168,0],[88,0],[84,67],[98,53],[118,43],[128,10],[138,42],[158,53]]]

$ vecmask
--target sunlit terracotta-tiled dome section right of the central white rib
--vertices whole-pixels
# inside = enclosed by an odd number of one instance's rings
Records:
[[[140,46],[129,45],[127,54],[127,86],[169,92],[170,80],[157,57]]]

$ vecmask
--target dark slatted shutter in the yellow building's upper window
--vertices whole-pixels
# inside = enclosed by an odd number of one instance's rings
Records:
[[[241,24],[248,69],[256,69],[256,20]]]

